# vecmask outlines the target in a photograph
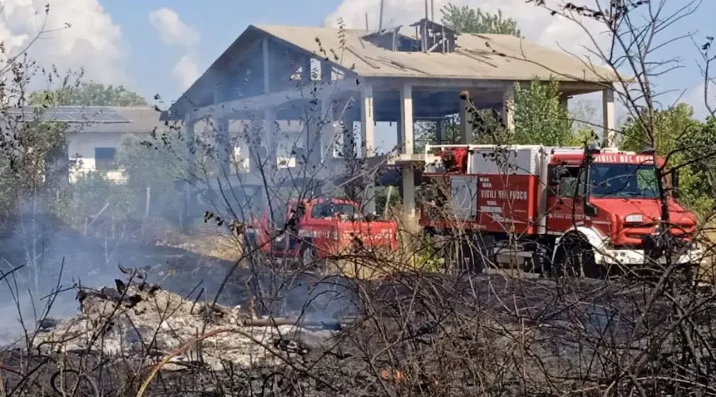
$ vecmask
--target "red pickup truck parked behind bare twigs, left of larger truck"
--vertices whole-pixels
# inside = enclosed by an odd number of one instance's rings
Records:
[[[253,228],[246,231],[249,246],[258,247],[270,257],[296,258],[303,264],[315,264],[317,259],[344,254],[354,244],[398,247],[397,223],[367,219],[353,201],[294,199],[279,208],[264,210]],[[275,221],[270,221],[271,217]]]

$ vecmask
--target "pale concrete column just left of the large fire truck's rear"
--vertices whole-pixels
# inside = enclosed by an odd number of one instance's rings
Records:
[[[400,153],[414,154],[414,122],[412,118],[412,87],[405,84],[400,90]],[[403,210],[408,216],[415,216],[415,172],[410,166],[402,170]]]

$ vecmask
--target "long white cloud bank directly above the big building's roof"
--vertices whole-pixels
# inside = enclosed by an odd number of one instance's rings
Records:
[[[585,4],[594,4],[594,0],[584,0]],[[369,28],[377,29],[379,18],[380,0],[343,0],[336,11],[326,16],[326,26],[337,26],[338,19],[342,18],[349,28],[364,29],[365,14],[368,14]],[[525,0],[435,0],[435,19],[440,21],[442,13],[440,9],[448,3],[455,6],[478,6],[483,11],[496,13],[503,11],[505,17],[511,17],[517,21],[522,34],[534,42],[538,42],[553,49],[565,49],[574,54],[585,56],[589,54],[588,49],[594,49],[590,34],[597,39],[599,46],[606,44],[606,35],[601,34],[604,29],[599,22],[592,19],[584,19],[584,27],[589,34],[578,24],[561,16],[552,16],[549,11],[533,4],[526,4]],[[548,1],[548,5],[558,6],[556,1]],[[424,0],[384,0],[384,27],[397,27],[402,25],[402,32],[411,32],[407,25],[425,17]],[[602,47],[604,48],[604,47]],[[597,62],[597,59],[593,59]]]

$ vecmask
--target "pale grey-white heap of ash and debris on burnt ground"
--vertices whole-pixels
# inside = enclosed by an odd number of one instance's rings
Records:
[[[241,307],[186,300],[155,284],[81,289],[81,313],[41,333],[35,347],[43,353],[98,351],[116,357],[146,357],[158,362],[182,350],[163,369],[199,364],[221,370],[226,362],[243,367],[276,365],[281,355],[308,353],[305,340],[322,343],[330,330],[296,325],[243,326],[250,317]],[[198,343],[198,335],[211,335]],[[188,348],[187,348],[188,346]]]

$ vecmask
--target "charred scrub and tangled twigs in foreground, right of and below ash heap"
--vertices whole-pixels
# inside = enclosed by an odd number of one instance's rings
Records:
[[[329,338],[286,336],[272,347],[277,365],[162,370],[145,396],[621,396],[637,383],[649,396],[711,395],[695,385],[713,381],[712,362],[705,355],[707,368],[695,370],[684,358],[679,335],[666,332],[677,317],[672,303],[654,299],[652,284],[401,274],[341,285],[351,290],[342,297],[362,301],[362,316]],[[3,365],[32,375],[4,370],[4,387],[40,395],[61,358],[92,377],[100,393],[77,394],[90,396],[135,396],[156,362],[18,348],[4,352]],[[629,366],[634,376],[624,379]]]

